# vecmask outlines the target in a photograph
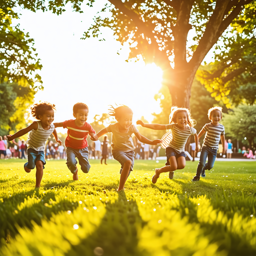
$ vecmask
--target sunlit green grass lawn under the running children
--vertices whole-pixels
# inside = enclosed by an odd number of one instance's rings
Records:
[[[0,160],[0,255],[256,255],[255,162],[197,162],[151,183],[164,161],[136,160],[124,192],[120,165],[90,160],[73,181],[47,161],[40,189],[24,160]]]

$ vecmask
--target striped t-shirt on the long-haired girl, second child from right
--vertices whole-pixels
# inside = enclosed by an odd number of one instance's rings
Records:
[[[183,152],[185,150],[185,143],[190,135],[196,133],[196,129],[190,126],[187,126],[186,130],[181,130],[178,128],[176,123],[166,124],[166,129],[171,129],[172,139],[170,140],[168,146],[176,149],[178,152]]]

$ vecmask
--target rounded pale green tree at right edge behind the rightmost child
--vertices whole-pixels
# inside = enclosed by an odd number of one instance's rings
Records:
[[[246,137],[251,147],[256,138],[256,105],[239,105],[223,114],[223,125],[228,135],[239,140]]]

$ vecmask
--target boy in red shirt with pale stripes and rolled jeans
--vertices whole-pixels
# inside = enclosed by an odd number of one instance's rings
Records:
[[[67,136],[65,139],[66,146],[66,165],[68,169],[73,173],[73,180],[78,179],[77,174],[77,161],[81,165],[81,170],[87,173],[90,168],[88,161],[88,134],[93,137],[95,130],[89,123],[86,122],[88,118],[88,106],[84,103],[76,103],[73,106],[73,116],[75,119],[66,120],[63,122],[54,123],[55,127],[67,128]]]

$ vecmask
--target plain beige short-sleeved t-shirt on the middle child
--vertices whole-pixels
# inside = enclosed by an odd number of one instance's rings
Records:
[[[112,132],[112,150],[121,150],[123,152],[134,150],[132,134],[138,132],[134,124],[131,124],[126,132],[119,131],[118,122],[109,124],[106,130],[107,132]]]

